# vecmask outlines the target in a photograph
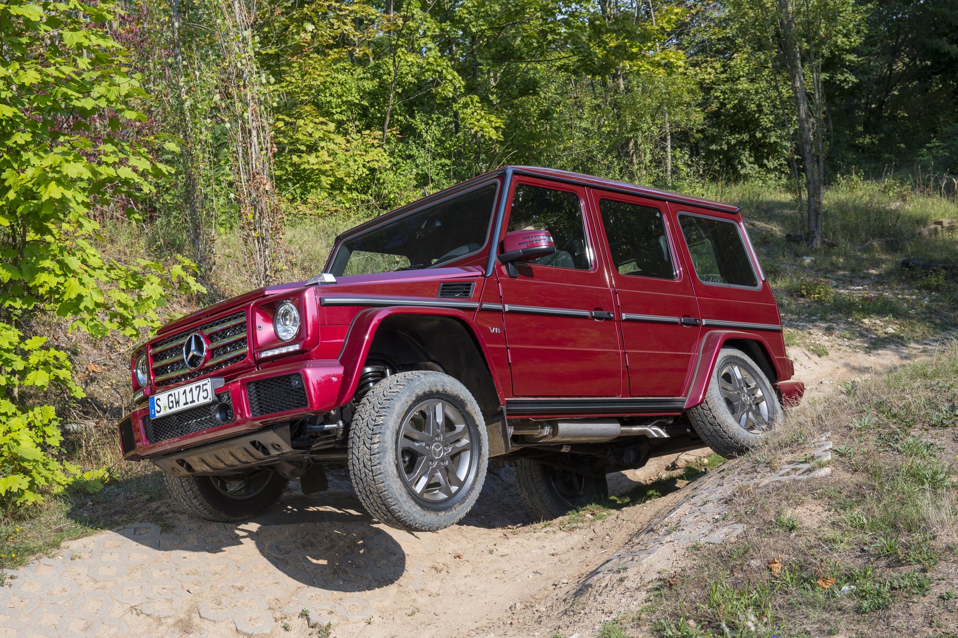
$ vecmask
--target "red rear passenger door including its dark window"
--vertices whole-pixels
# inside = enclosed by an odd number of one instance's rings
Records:
[[[599,212],[633,397],[678,397],[695,363],[699,317],[664,202],[591,190]]]

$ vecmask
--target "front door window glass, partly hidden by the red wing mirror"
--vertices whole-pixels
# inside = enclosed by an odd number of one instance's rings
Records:
[[[519,184],[513,191],[509,230],[552,233],[556,252],[529,263],[583,271],[591,268],[582,202],[576,193]]]

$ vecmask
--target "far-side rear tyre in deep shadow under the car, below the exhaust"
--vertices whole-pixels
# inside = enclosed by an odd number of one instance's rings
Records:
[[[562,495],[556,487],[556,473],[572,472],[533,458],[520,458],[515,461],[515,481],[519,497],[537,520],[552,520],[608,497],[608,483],[604,476],[580,474],[584,480],[583,494],[570,499]]]

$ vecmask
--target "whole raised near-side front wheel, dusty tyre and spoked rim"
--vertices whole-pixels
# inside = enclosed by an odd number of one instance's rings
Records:
[[[350,426],[350,477],[370,514],[415,532],[465,517],[486,479],[489,442],[468,389],[441,372],[400,372],[363,397]]]

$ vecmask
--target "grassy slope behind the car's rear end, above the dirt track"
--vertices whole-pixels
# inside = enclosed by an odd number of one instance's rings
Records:
[[[803,214],[781,185],[713,184],[700,194],[741,206],[790,328],[787,345],[825,357],[831,341],[874,348],[958,324],[958,270],[901,267],[905,257],[958,267],[958,231],[922,233],[958,220],[954,201],[893,180],[839,180],[825,196],[827,243],[811,251],[785,238],[803,230]]]

